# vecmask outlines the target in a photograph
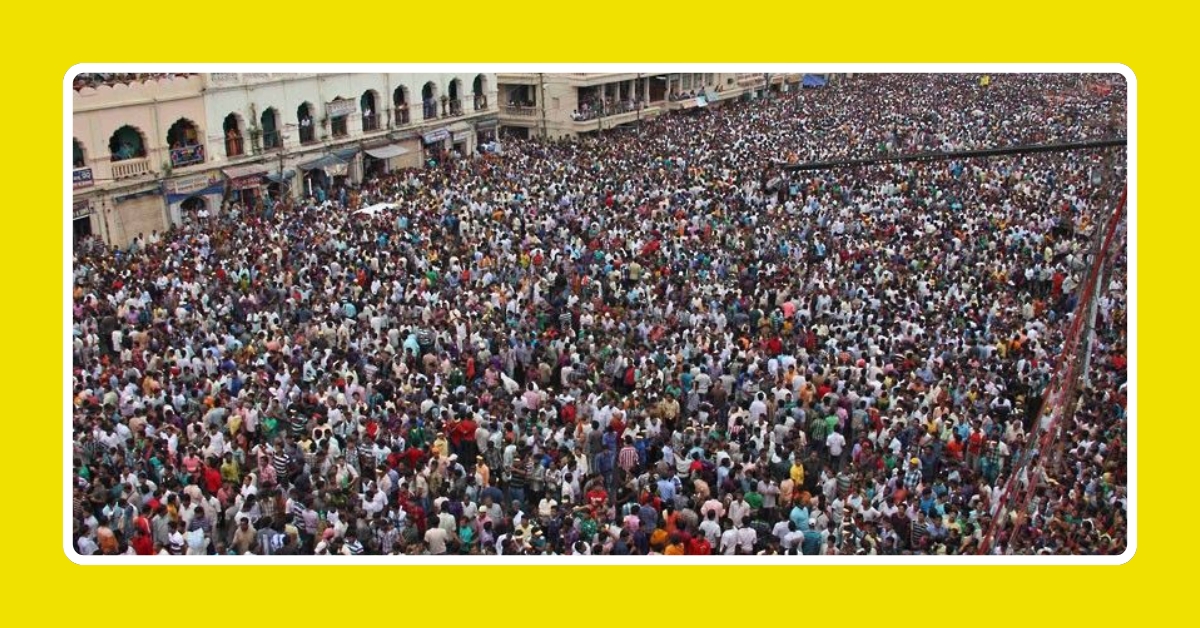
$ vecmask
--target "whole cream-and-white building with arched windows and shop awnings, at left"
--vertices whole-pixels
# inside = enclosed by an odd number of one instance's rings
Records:
[[[73,95],[74,233],[126,244],[185,216],[494,139],[496,74],[176,74]]]

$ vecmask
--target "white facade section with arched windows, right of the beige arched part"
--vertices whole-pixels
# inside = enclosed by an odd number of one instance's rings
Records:
[[[230,197],[304,196],[472,155],[498,126],[496,74],[206,76],[208,150]]]

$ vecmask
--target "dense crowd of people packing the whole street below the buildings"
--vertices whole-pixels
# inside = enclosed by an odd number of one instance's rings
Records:
[[[1123,124],[1111,77],[860,74],[80,243],[74,546],[1120,554],[1123,247],[1031,454],[1123,155],[773,165]]]

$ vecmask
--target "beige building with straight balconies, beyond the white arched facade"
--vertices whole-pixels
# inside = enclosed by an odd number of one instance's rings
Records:
[[[764,73],[499,73],[500,133],[574,137],[636,124],[666,112],[720,107],[761,94],[768,83],[786,90],[800,74]]]

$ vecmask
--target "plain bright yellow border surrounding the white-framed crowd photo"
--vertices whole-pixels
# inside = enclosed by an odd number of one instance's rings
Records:
[[[1188,10],[1088,2],[86,2],[6,6],[0,211],[7,341],[0,587],[8,626],[512,618],[967,626],[1184,622],[1194,396],[1194,52]],[[370,13],[366,8],[370,6]],[[425,7],[425,8],[421,8]],[[439,8],[444,7],[444,8]],[[44,17],[35,14],[44,11]],[[167,12],[170,11],[170,14]],[[738,25],[744,26],[742,34]],[[330,31],[336,28],[336,31]],[[415,55],[415,56],[407,56]],[[62,554],[62,78],[115,61],[1090,61],[1138,76],[1138,554],[1121,567],[134,568]],[[1176,195],[1175,192],[1181,192]],[[1184,294],[1172,294],[1190,287]],[[1189,324],[1190,323],[1190,324]],[[1190,361],[1190,360],[1189,360]],[[1194,366],[1193,366],[1194,367]],[[1163,426],[1169,421],[1170,426]],[[1187,476],[1183,476],[1187,473]],[[484,588],[476,590],[478,586]],[[1192,591],[1189,594],[1188,591]],[[527,612],[524,609],[528,608]],[[11,610],[10,610],[11,609]],[[1166,612],[1169,615],[1160,616]],[[648,616],[649,615],[649,616]],[[457,620],[457,621],[456,621]],[[660,617],[668,622],[680,620]],[[704,621],[708,620],[708,621]],[[1193,620],[1194,621],[1194,616]],[[10,623],[12,622],[12,623]],[[86,624],[84,623],[84,624]],[[440,623],[440,622],[439,622]],[[658,623],[658,622],[655,622]]]

